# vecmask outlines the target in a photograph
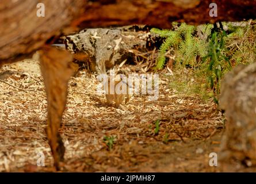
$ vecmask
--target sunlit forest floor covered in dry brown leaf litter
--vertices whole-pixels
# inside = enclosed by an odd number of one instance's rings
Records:
[[[47,99],[39,64],[25,60],[0,72],[5,71],[15,74],[2,77],[9,84],[0,82],[0,171],[55,171],[45,133]],[[83,71],[69,82],[60,129],[66,147],[62,171],[222,171],[221,164],[209,166],[209,154],[220,151],[224,132],[223,117],[211,99],[177,93],[165,72],[159,75],[157,101],[133,95],[128,104],[114,108],[106,105],[104,94],[97,94],[97,85],[95,75]],[[112,149],[105,136],[113,138]],[[45,167],[37,166],[40,152]],[[228,171],[255,168],[234,162]]]

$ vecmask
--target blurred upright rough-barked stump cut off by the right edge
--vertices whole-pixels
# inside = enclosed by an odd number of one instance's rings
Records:
[[[225,110],[226,132],[221,160],[234,158],[256,165],[256,63],[238,66],[221,83],[220,108]]]

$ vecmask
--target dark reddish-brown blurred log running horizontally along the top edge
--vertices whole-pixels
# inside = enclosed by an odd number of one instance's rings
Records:
[[[105,2],[102,5],[102,2]],[[217,17],[209,16],[209,5],[217,4]],[[169,28],[171,21],[204,24],[255,18],[256,1],[238,0],[120,0],[95,1],[74,24],[85,27],[148,24]]]

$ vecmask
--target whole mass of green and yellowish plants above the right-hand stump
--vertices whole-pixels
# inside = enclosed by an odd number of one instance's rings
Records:
[[[213,98],[218,104],[220,80],[224,74],[237,64],[256,60],[255,23],[192,26],[174,22],[170,30],[151,29],[152,33],[165,38],[159,48],[156,68],[165,66],[166,52],[171,51],[170,55],[175,56],[174,76],[167,76],[171,89],[187,95],[197,94],[204,100]]]

